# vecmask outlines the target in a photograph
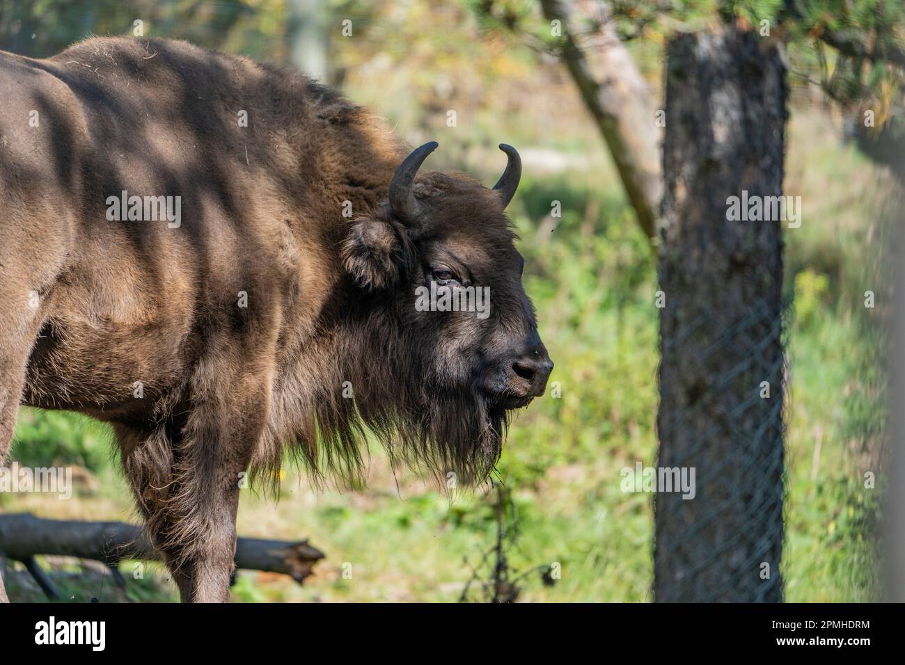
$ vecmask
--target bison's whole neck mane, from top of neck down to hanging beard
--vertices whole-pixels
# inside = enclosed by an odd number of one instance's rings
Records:
[[[373,437],[394,463],[454,473],[462,483],[484,479],[499,459],[504,412],[468,386],[443,387],[423,342],[406,338],[393,309],[357,288],[338,259],[350,223],[344,208],[373,214],[408,149],[335,90],[272,65],[236,66],[262,72],[256,85],[267,94],[255,98],[272,100],[255,120],[270,129],[267,151],[252,161],[283,184],[291,237],[281,243],[298,293],[283,312],[270,419],[252,475],[274,487],[289,454],[315,480],[359,483]]]

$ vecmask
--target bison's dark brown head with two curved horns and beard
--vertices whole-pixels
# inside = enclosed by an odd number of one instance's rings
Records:
[[[352,225],[344,247],[367,329],[381,329],[373,342],[386,345],[375,349],[378,375],[363,377],[377,387],[357,394],[357,408],[391,450],[395,442],[405,457],[476,480],[499,458],[507,413],[544,394],[553,363],[503,212],[519,185],[518,152],[500,146],[509,163],[488,189],[462,175],[416,179],[436,147],[405,158],[386,204]]]

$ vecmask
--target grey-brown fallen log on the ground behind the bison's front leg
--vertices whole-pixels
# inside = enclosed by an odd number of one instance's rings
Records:
[[[162,558],[144,529],[133,524],[42,519],[29,513],[0,515],[0,557],[21,561],[31,566],[30,571],[40,571],[34,564],[35,555],[93,559],[111,570],[116,570],[122,559]],[[323,557],[307,539],[292,543],[240,537],[235,547],[237,568],[289,575],[299,584]]]

